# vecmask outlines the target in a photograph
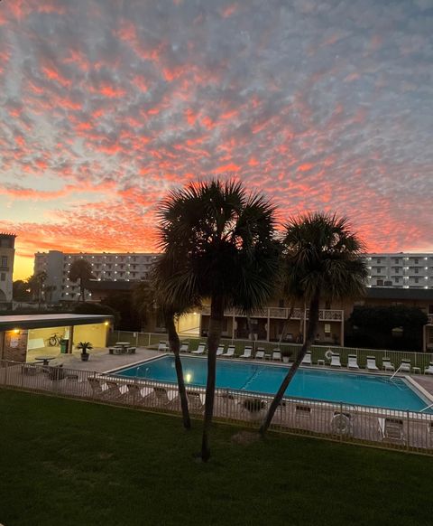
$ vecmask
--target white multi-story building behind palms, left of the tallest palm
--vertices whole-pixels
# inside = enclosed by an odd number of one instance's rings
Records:
[[[44,282],[45,301],[59,303],[77,301],[79,284],[69,280],[69,269],[77,259],[86,259],[99,281],[141,281],[149,277],[152,263],[158,254],[152,253],[75,253],[66,254],[59,250],[37,252],[34,255],[34,274],[46,272]],[[86,299],[91,300],[91,292]]]

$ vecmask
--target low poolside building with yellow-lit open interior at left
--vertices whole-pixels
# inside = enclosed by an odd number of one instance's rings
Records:
[[[0,316],[0,359],[32,362],[37,355],[72,352],[79,342],[106,347],[112,316]]]

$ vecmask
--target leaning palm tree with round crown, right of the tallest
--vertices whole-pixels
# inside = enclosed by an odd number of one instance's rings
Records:
[[[272,422],[290,380],[298,371],[318,327],[319,302],[364,295],[368,275],[362,255],[364,243],[352,232],[345,218],[325,213],[309,213],[291,218],[282,241],[283,292],[291,299],[309,304],[309,324],[304,343],[268,410],[262,435]]]

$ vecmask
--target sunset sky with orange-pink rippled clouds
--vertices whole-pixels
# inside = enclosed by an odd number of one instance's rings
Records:
[[[433,0],[3,0],[0,231],[152,251],[172,188],[234,177],[433,251]]]

